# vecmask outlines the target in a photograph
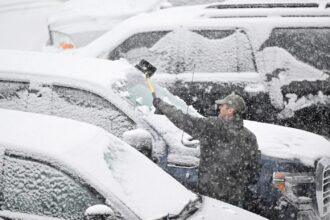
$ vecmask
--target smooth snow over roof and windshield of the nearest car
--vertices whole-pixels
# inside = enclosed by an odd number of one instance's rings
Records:
[[[65,164],[108,199],[113,195],[120,198],[141,219],[178,213],[197,198],[134,148],[99,127],[4,109],[0,109],[0,121],[2,146]]]

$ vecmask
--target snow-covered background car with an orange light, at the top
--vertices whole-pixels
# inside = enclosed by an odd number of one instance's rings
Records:
[[[70,0],[48,17],[49,40],[45,50],[85,46],[117,23],[164,4],[164,0]]]

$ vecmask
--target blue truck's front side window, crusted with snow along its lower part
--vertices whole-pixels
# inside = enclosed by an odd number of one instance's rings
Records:
[[[53,114],[98,125],[117,137],[136,123],[103,97],[94,93],[53,86]]]

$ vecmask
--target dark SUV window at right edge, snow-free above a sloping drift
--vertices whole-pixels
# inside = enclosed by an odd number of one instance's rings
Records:
[[[330,28],[276,28],[260,50],[269,47],[285,49],[319,70],[330,70]]]

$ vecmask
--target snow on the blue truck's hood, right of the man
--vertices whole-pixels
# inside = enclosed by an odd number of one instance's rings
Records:
[[[324,137],[279,125],[244,121],[257,137],[262,154],[283,159],[298,159],[308,166],[315,160],[330,157],[330,142]]]

